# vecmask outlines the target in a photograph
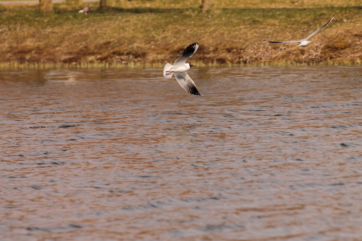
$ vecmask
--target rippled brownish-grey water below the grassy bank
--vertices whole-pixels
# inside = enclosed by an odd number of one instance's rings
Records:
[[[362,68],[3,71],[0,240],[362,240]]]

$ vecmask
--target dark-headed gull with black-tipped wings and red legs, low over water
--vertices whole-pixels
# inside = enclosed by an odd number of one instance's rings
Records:
[[[192,66],[196,65],[186,63],[186,60],[194,55],[198,47],[198,43],[191,44],[189,47],[185,48],[184,51],[182,51],[181,56],[175,61],[175,63],[173,63],[173,65],[167,63],[163,68],[164,77],[169,79],[174,74],[177,82],[181,85],[181,87],[184,88],[186,92],[193,95],[202,94],[198,91],[195,82],[186,73],[186,70],[189,70]]]

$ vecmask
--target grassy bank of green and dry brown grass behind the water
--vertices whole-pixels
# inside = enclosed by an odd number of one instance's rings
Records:
[[[103,11],[94,2],[87,15],[77,13],[87,3],[54,4],[55,13],[45,15],[37,5],[0,5],[0,67],[162,66],[193,42],[200,48],[191,63],[201,65],[362,61],[360,1],[214,0],[207,12],[201,0],[174,2],[108,1]],[[302,39],[333,15],[305,48],[263,42]]]

